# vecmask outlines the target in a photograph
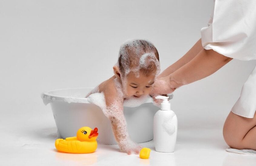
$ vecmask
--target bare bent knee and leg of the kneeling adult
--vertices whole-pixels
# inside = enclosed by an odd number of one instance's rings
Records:
[[[254,118],[245,118],[230,111],[223,137],[231,148],[256,150],[256,112]]]

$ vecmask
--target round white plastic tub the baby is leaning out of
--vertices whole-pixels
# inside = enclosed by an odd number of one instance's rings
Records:
[[[108,118],[100,107],[91,104],[84,98],[92,88],[71,88],[48,91],[42,94],[44,104],[50,103],[58,137],[75,136],[82,126],[98,128],[98,143],[116,144]],[[153,117],[158,107],[147,100],[139,107],[124,107],[128,132],[131,139],[137,143],[153,139]]]

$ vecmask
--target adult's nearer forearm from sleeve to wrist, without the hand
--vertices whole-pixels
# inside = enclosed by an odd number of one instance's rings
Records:
[[[178,88],[205,78],[231,60],[232,58],[223,56],[212,49],[202,49],[190,62],[169,75],[171,87]]]

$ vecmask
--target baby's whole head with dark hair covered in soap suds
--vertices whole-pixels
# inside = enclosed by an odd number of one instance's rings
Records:
[[[125,97],[148,95],[160,72],[159,55],[147,40],[130,40],[119,50],[115,76],[121,79]]]

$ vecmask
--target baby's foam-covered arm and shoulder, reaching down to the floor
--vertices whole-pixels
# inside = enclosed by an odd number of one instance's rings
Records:
[[[123,97],[117,92],[114,79],[115,77],[112,77],[104,81],[89,94],[87,94],[86,97],[88,97],[88,101],[90,100],[89,102],[101,107],[103,113],[109,118],[112,131],[116,142],[119,145],[120,151],[128,154],[131,154],[132,152],[139,154],[142,146],[131,141],[129,137],[127,123],[123,112]],[[121,89],[118,89],[118,91],[121,91]],[[106,103],[103,104],[97,98],[92,97],[91,94],[94,93],[101,93],[102,95],[104,94],[103,98],[105,98]],[[99,101],[100,103],[98,103]]]

